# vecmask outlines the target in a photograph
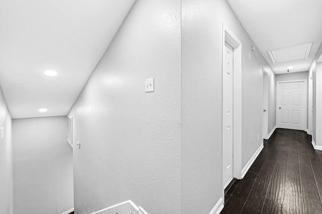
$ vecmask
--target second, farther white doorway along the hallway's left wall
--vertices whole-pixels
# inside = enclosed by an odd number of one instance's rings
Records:
[[[263,68],[263,138],[268,140],[268,72]],[[266,81],[266,82],[265,82]],[[264,89],[264,86],[265,89]],[[264,104],[266,101],[266,104]],[[264,114],[264,109],[267,114]]]

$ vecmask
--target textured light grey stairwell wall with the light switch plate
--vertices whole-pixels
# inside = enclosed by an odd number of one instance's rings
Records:
[[[75,213],[128,199],[181,213],[180,0],[135,2],[68,115]]]

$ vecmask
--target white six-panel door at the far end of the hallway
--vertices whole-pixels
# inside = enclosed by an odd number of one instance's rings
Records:
[[[306,80],[277,82],[277,126],[306,131]]]

